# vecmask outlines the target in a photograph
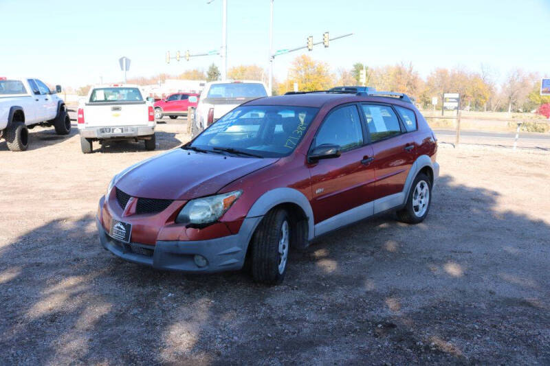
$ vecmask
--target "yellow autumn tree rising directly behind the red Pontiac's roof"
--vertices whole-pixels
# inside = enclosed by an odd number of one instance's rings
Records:
[[[298,82],[300,91],[327,90],[334,85],[329,65],[307,55],[294,58],[287,80],[280,84],[279,93],[283,94],[285,91],[292,90],[294,82]]]

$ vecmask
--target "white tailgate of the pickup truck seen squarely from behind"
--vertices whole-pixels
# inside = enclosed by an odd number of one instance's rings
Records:
[[[132,126],[148,124],[145,102],[90,103],[84,107],[86,126]]]

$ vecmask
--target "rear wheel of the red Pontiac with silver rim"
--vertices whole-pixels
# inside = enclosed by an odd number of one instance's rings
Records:
[[[426,174],[419,173],[412,181],[405,207],[397,211],[397,220],[418,224],[428,216],[431,203],[432,183]]]

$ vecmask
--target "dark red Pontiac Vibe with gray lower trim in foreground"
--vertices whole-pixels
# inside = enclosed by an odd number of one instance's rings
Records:
[[[289,248],[382,211],[430,209],[437,142],[404,94],[289,93],[246,102],[181,148],[113,177],[101,243],[155,268],[283,280]]]

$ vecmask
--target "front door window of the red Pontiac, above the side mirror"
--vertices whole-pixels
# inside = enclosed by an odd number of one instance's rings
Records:
[[[315,145],[335,144],[350,150],[363,144],[361,120],[355,106],[344,106],[333,111],[322,123]]]

